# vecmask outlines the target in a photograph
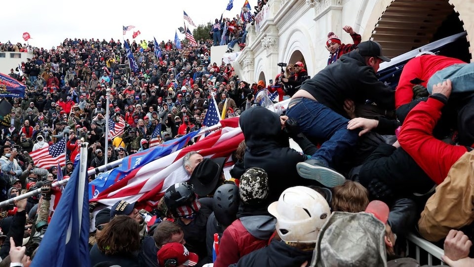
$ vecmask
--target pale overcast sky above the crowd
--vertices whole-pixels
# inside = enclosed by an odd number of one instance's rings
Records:
[[[66,38],[99,38],[110,41],[122,39],[122,25],[133,25],[136,28],[128,31],[125,39],[132,40],[133,31],[140,30],[135,40],[158,42],[173,40],[177,28],[183,26],[183,9],[196,25],[224,17],[235,17],[240,14],[245,0],[234,0],[234,8],[227,11],[229,0],[155,0],[155,1],[110,1],[82,0],[64,1],[26,0],[2,2],[1,21],[4,25],[0,34],[1,43],[8,40],[12,43],[24,42],[24,32],[30,33],[28,42],[33,46],[50,49],[59,45]],[[253,6],[257,0],[248,0]],[[119,4],[120,3],[120,4]],[[7,26],[9,25],[9,26]],[[195,29],[190,27],[191,31]],[[178,32],[180,39],[184,35]]]

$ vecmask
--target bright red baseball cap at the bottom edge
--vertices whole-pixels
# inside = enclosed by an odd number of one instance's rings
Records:
[[[177,242],[164,244],[158,250],[157,257],[159,266],[195,266],[199,260],[197,254],[189,252]]]

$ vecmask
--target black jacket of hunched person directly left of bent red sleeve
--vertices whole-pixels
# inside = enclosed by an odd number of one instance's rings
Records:
[[[403,148],[386,143],[362,164],[359,180],[372,198],[388,203],[397,197],[426,193],[435,185]]]

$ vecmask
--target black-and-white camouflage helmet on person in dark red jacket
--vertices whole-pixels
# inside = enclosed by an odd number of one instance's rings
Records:
[[[267,172],[261,168],[247,169],[240,177],[238,193],[245,204],[254,205],[263,202],[268,196]]]

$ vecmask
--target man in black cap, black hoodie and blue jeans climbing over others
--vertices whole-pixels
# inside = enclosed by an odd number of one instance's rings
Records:
[[[288,104],[286,115],[298,121],[303,134],[326,140],[306,162],[298,163],[298,174],[325,186],[342,184],[345,178],[330,169],[356,144],[359,130],[347,129],[343,106],[346,99],[362,104],[370,99],[383,108],[395,108],[395,95],[379,82],[375,73],[382,61],[382,46],[373,41],[360,43],[335,64],[306,80]]]

